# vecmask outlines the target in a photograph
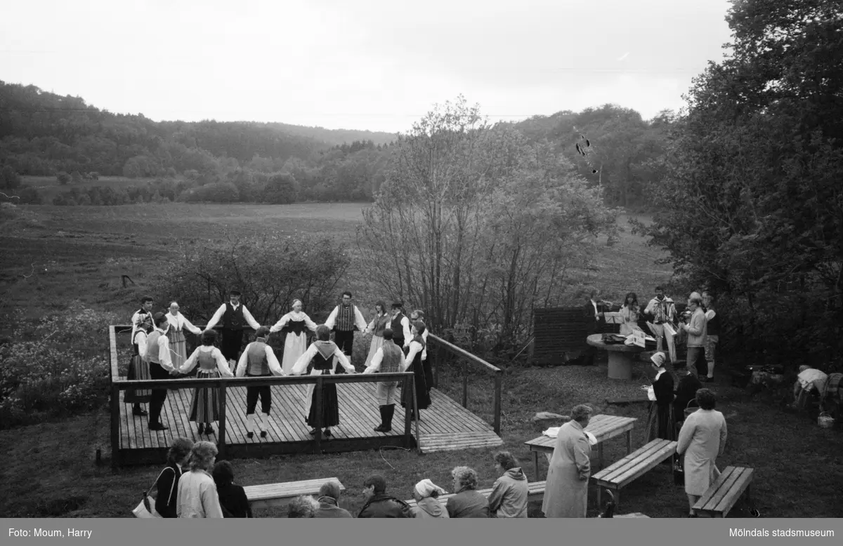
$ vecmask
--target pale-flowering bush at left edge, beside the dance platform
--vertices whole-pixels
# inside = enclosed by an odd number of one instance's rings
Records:
[[[95,409],[107,403],[109,324],[73,302],[38,321],[10,317],[12,335],[0,345],[0,429]]]

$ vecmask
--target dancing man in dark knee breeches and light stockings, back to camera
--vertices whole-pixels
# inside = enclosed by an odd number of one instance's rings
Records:
[[[266,338],[269,336],[269,328],[261,326],[256,338],[249,345],[246,345],[240,361],[237,363],[237,377],[268,377],[271,375],[287,375],[281,369],[281,364],[272,351],[272,347],[266,345]],[[260,416],[255,415],[255,407],[260,398]],[[246,387],[246,436],[255,436],[255,424],[260,429],[260,437],[266,438],[266,430],[269,428],[269,412],[272,406],[271,385],[260,387]]]

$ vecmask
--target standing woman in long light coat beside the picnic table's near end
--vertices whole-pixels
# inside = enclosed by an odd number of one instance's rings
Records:
[[[585,517],[588,508],[588,478],[591,475],[591,444],[585,427],[594,410],[580,404],[571,410],[571,420],[559,429],[547,471],[545,517]]]

